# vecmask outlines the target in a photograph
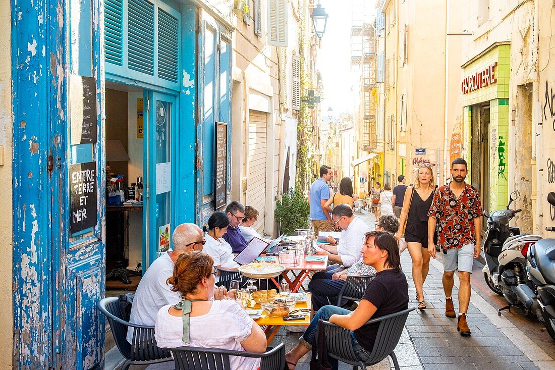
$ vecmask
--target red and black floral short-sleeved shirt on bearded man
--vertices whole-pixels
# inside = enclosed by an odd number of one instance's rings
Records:
[[[428,216],[438,222],[438,243],[443,249],[462,248],[476,242],[473,219],[483,214],[480,193],[470,184],[457,199],[449,184],[437,189]]]

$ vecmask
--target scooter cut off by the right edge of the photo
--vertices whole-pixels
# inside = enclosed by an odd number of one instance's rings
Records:
[[[549,193],[547,201],[555,207],[555,193]],[[555,227],[546,227],[546,230],[555,232]],[[527,309],[536,313],[549,336],[555,339],[555,238],[533,244],[526,259],[528,278],[537,288],[532,291],[528,286],[518,286],[518,297]]]

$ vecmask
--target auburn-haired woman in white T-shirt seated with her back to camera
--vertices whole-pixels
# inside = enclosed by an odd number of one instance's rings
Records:
[[[225,216],[225,214],[224,214]],[[160,308],[154,337],[160,348],[201,347],[264,353],[264,331],[234,300],[212,301],[214,260],[203,252],[181,255],[168,279],[181,302]],[[230,368],[256,370],[260,359],[231,356]]]

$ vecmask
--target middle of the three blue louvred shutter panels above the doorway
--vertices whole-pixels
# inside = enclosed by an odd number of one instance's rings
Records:
[[[154,4],[128,0],[127,67],[154,74]]]

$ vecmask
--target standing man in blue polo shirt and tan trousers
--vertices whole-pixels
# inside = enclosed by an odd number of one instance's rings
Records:
[[[316,179],[310,186],[309,203],[310,203],[310,219],[314,226],[314,235],[318,235],[319,231],[331,231],[331,208],[325,207],[327,199],[330,199],[330,187],[327,182],[331,179],[331,167],[320,167],[320,178]]]

